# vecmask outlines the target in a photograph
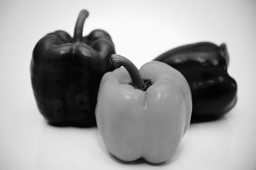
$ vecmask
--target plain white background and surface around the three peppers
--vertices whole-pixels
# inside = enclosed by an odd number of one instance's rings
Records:
[[[109,155],[97,128],[52,127],[40,115],[29,75],[36,42],[73,34],[111,34],[116,52],[140,67],[175,46],[227,43],[236,106],[214,122],[191,124],[173,160],[125,164]],[[0,169],[256,169],[256,1],[0,1]]]

